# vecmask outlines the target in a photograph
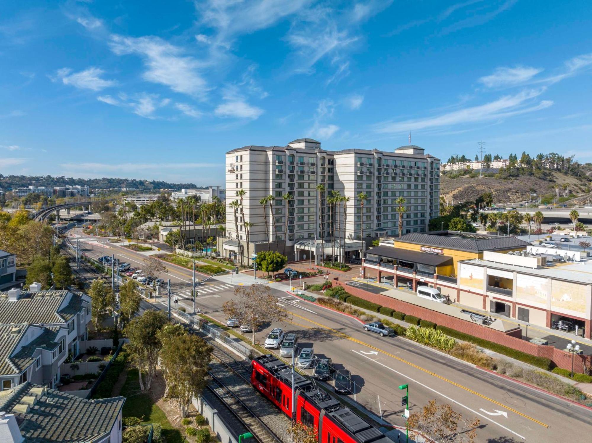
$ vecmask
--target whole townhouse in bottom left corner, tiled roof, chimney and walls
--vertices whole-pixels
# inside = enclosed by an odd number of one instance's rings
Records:
[[[0,441],[121,443],[125,401],[86,400],[27,381],[0,392]]]

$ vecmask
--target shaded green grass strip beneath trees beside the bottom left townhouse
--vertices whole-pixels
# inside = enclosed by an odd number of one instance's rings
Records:
[[[124,417],[141,418],[143,416],[143,423],[160,423],[162,436],[166,438],[166,443],[182,443],[185,441],[181,432],[173,428],[165,413],[155,405],[150,396],[140,393],[137,369],[128,370],[126,383],[121,388],[120,395],[126,397],[126,403],[123,405]]]

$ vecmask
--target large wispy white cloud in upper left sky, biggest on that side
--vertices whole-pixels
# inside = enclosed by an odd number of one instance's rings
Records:
[[[198,69],[201,63],[194,57],[159,37],[111,36],[111,50],[117,55],[139,54],[144,59],[146,81],[169,86],[175,92],[204,98],[208,91]]]

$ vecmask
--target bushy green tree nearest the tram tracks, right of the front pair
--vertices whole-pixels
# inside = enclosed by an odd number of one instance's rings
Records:
[[[200,336],[184,333],[161,335],[160,365],[165,371],[166,389],[178,398],[181,416],[187,416],[189,403],[207,384],[213,347]]]

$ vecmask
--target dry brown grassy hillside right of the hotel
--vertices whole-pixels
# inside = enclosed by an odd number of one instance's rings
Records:
[[[590,191],[590,178],[583,175],[577,176],[562,174],[561,172],[548,173],[546,179],[538,179],[534,176],[518,176],[511,179],[498,179],[493,177],[475,177],[468,175],[456,178],[448,178],[447,174],[441,176],[440,195],[448,203],[461,203],[473,201],[475,198],[491,192],[494,203],[514,203],[529,200],[530,190],[538,195],[555,194],[554,185],[568,183],[569,192],[575,195],[587,194]],[[563,191],[560,191],[563,195]]]

